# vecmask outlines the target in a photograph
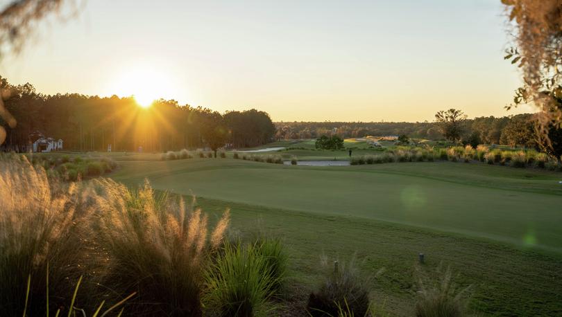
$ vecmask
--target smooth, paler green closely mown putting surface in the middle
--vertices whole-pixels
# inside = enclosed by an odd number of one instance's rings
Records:
[[[230,159],[122,162],[128,185],[250,205],[391,221],[562,252],[556,174],[463,163],[293,167]],[[470,175],[470,176],[469,176]]]

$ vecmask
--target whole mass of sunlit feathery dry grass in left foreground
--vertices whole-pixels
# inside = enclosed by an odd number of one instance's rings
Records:
[[[201,210],[148,183],[138,191],[109,179],[66,183],[25,156],[2,156],[0,313],[41,316],[49,301],[54,316],[56,307],[70,312],[69,298],[89,307],[137,292],[128,314],[200,315],[203,269],[228,222],[227,211],[208,232]]]

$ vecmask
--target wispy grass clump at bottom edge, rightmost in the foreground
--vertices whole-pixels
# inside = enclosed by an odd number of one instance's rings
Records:
[[[428,278],[419,278],[418,300],[416,302],[416,316],[435,317],[435,316],[463,316],[465,315],[467,300],[466,293],[470,286],[458,290],[452,281],[451,270],[445,272],[441,268],[437,271],[439,278],[437,281],[430,281]]]

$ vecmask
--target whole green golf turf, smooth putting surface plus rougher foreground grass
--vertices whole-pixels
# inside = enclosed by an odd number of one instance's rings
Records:
[[[291,151],[307,150],[280,154]],[[304,154],[341,159],[347,152]],[[416,272],[434,275],[438,266],[450,267],[459,287],[470,286],[470,307],[480,314],[562,313],[559,172],[449,161],[315,167],[231,153],[174,161],[109,155],[119,168],[108,176],[129,188],[147,180],[155,190],[196,197],[211,221],[230,208],[230,235],[280,237],[298,298],[287,298],[288,315],[306,305],[324,272],[322,257],[354,256],[365,273],[384,270],[371,298],[393,315],[412,314]]]

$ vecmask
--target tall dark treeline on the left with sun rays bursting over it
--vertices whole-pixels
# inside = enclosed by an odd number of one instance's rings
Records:
[[[142,109],[133,98],[100,98],[76,93],[37,93],[31,84],[13,86],[0,78],[6,132],[0,150],[24,152],[37,132],[61,138],[65,150],[164,152],[182,148],[252,147],[270,142],[275,125],[264,111],[227,111],[157,100]],[[1,109],[0,109],[1,110]],[[15,119],[12,120],[11,118]],[[0,131],[1,132],[1,131]],[[0,142],[1,143],[1,142]]]

